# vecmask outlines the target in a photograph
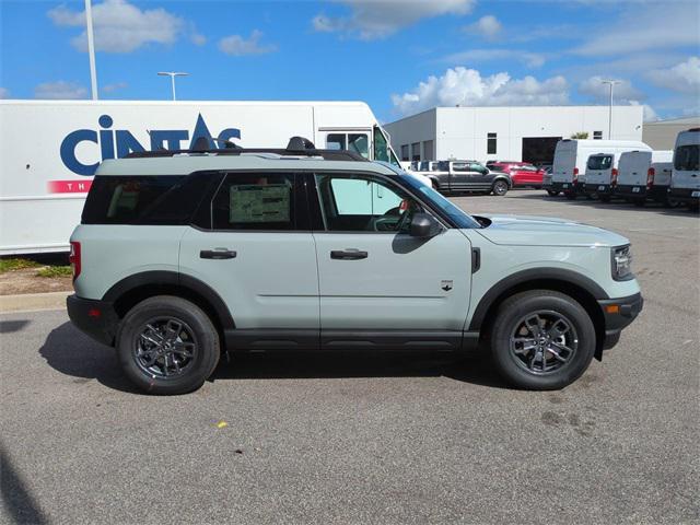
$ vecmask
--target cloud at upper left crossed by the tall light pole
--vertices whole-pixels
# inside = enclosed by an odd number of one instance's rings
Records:
[[[84,27],[85,12],[59,5],[48,12],[51,21],[63,27]],[[184,21],[162,8],[140,10],[127,0],[105,0],[92,8],[95,49],[106,52],[131,52],[143,45],[172,44]],[[88,50],[85,31],[71,39],[80,51]]]

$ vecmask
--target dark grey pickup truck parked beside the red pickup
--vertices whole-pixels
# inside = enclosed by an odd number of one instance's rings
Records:
[[[443,194],[471,191],[503,196],[512,187],[506,173],[491,171],[477,161],[440,161],[438,171],[425,172]]]

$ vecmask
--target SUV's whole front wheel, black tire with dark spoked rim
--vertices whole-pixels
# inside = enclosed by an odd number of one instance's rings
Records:
[[[532,340],[544,346],[527,350],[524,347],[528,343],[524,341],[533,331],[526,325],[539,324],[534,320],[535,315],[544,320],[545,329],[538,328],[541,334],[537,338],[533,335]],[[555,319],[561,322],[555,323]],[[567,328],[563,335],[557,331],[561,328]],[[557,336],[552,338],[552,334]],[[583,306],[569,295],[549,290],[532,290],[506,299],[497,312],[490,340],[491,357],[501,376],[517,388],[530,390],[570,385],[586,371],[596,347],[595,328]],[[569,350],[563,350],[562,345]],[[559,358],[553,352],[558,352]],[[537,370],[538,366],[544,370]]]

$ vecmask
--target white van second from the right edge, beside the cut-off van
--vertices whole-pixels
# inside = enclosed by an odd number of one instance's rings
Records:
[[[643,206],[650,199],[664,205],[668,200],[674,152],[626,151],[620,155],[615,195]]]

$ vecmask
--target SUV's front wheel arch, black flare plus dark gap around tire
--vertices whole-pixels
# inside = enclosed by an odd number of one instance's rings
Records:
[[[595,281],[571,270],[532,269],[501,279],[479,301],[469,322],[469,331],[479,332],[480,337],[487,336],[501,303],[516,293],[529,290],[560,292],[579,302],[591,316],[596,331],[595,357],[598,360],[602,359],[605,317],[597,301],[609,299],[609,296]]]

